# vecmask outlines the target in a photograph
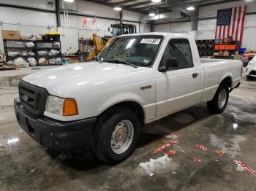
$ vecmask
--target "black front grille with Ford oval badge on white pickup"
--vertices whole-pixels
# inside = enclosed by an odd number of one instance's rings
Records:
[[[45,88],[20,81],[19,95],[24,109],[31,114],[41,116],[45,112],[45,103],[49,95]]]

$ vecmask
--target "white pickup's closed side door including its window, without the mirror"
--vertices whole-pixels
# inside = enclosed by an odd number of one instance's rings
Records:
[[[157,119],[197,103],[200,71],[194,66],[188,39],[170,39],[159,66],[176,59],[178,66],[157,71]]]

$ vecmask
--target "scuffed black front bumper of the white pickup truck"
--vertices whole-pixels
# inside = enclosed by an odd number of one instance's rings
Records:
[[[34,116],[23,109],[19,98],[15,98],[14,106],[20,127],[39,144],[59,152],[72,152],[89,146],[96,117],[62,122]]]

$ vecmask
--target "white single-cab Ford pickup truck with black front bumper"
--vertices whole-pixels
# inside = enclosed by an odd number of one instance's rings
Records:
[[[241,61],[200,59],[186,34],[123,35],[97,61],[24,77],[15,113],[21,128],[53,151],[90,146],[99,159],[118,163],[146,123],[200,102],[223,112],[241,69]]]

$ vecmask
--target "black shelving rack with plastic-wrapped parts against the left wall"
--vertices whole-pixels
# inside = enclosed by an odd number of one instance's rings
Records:
[[[37,66],[55,66],[55,65],[60,65],[60,64],[39,64],[39,58],[45,58],[46,60],[50,58],[62,58],[61,54],[61,42],[60,41],[42,41],[42,40],[37,40],[37,41],[31,41],[31,40],[16,40],[16,39],[4,39],[4,52],[6,53],[6,60],[7,61],[12,61],[16,58],[24,58],[25,60],[27,58],[35,58],[37,61]],[[7,42],[34,42],[34,47],[8,47]],[[38,47],[39,43],[54,43],[54,42],[59,42],[59,47]],[[16,50],[16,51],[22,51],[22,50],[30,50],[34,52],[34,56],[31,55],[17,55],[14,57],[11,57],[8,55],[9,50]],[[58,55],[38,55],[38,51],[40,50],[59,50]]]

